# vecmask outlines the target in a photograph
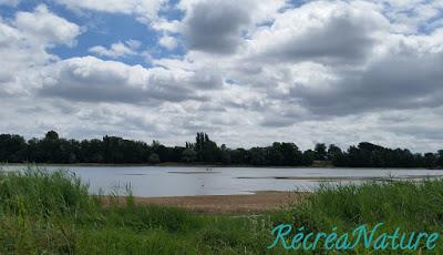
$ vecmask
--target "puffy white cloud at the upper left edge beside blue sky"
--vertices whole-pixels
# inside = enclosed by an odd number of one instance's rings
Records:
[[[74,45],[81,29],[45,6],[20,11],[12,20],[0,19],[0,95],[28,94],[39,86],[39,69],[58,58],[47,52],[56,44]]]

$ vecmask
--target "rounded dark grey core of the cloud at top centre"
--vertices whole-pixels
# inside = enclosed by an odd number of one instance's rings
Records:
[[[248,11],[238,2],[198,2],[185,18],[187,47],[212,53],[233,53],[241,43],[241,28],[249,21]]]

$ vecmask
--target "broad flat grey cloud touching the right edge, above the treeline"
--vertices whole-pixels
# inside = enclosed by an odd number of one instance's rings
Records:
[[[295,86],[292,96],[321,115],[443,105],[443,53],[400,51],[368,70],[339,73],[329,89]]]

